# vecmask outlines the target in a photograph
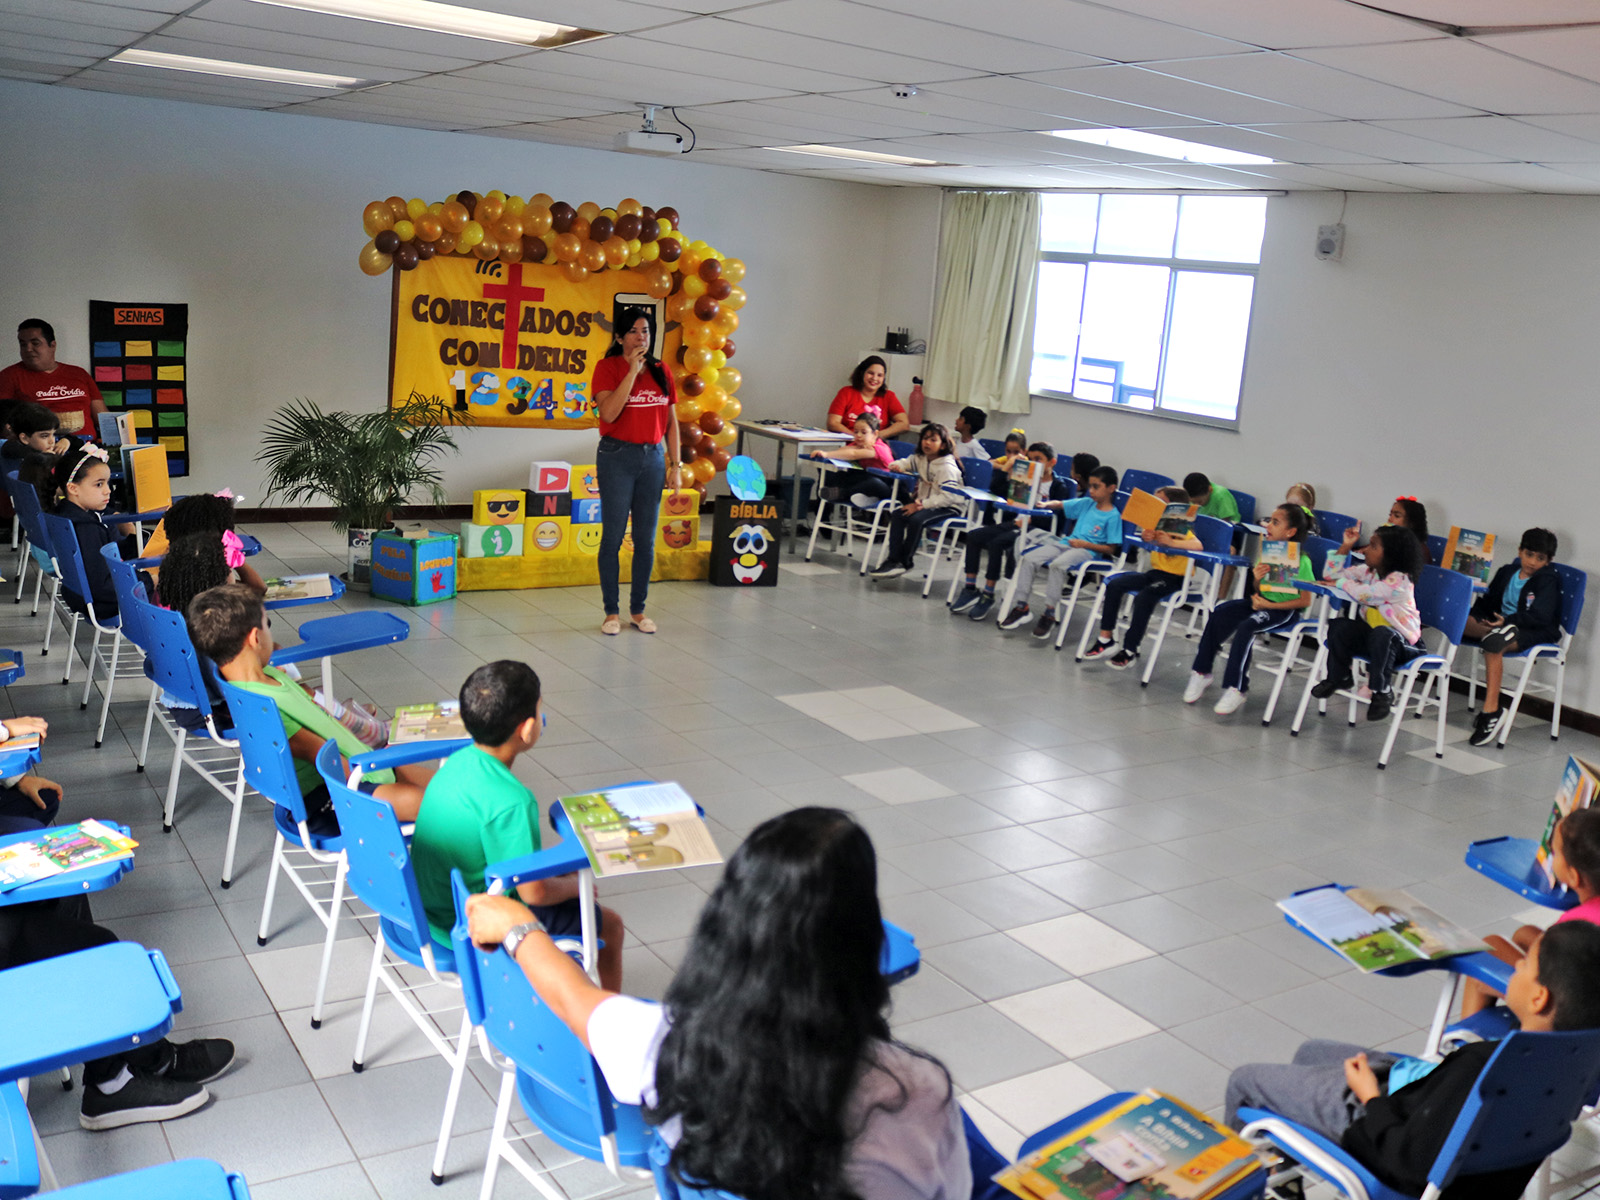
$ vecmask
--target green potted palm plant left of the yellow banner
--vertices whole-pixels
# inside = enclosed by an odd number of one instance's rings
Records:
[[[314,400],[285,405],[267,422],[256,461],[267,467],[267,496],[333,501],[333,528],[346,534],[346,576],[371,582],[373,534],[418,493],[445,502],[437,459],[459,453],[450,426],[462,418],[437,397],[413,392],[378,413],[323,413]]]

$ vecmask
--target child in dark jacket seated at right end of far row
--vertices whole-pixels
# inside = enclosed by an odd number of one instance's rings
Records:
[[[1555,534],[1549,530],[1525,530],[1517,562],[1499,568],[1490,590],[1472,602],[1467,637],[1478,638],[1485,675],[1483,709],[1467,739],[1474,746],[1494,741],[1506,654],[1562,640],[1562,576],[1550,566],[1555,549]]]

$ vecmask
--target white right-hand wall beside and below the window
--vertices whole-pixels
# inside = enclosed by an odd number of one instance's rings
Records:
[[[1499,562],[1546,525],[1563,562],[1600,571],[1582,499],[1600,445],[1600,197],[1352,195],[1344,261],[1320,262],[1315,227],[1338,203],[1269,203],[1238,432],[1048,400],[1018,424],[1118,469],[1205,470],[1262,504],[1306,478],[1320,507],[1368,525],[1414,494],[1435,533],[1496,531]],[[1595,606],[1568,678],[1587,712]]]

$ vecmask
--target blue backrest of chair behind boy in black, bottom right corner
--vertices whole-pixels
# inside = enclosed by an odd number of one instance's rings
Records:
[[[1566,1144],[1595,1088],[1600,1088],[1600,1029],[1512,1034],[1499,1043],[1461,1106],[1427,1173],[1429,1182],[1443,1189],[1461,1176],[1542,1162]]]

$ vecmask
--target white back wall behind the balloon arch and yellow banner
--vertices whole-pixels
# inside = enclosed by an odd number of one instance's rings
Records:
[[[0,82],[0,110],[6,338],[22,317],[45,317],[61,358],[82,365],[90,299],[187,302],[186,486],[232,486],[251,504],[262,496],[253,450],[274,408],[384,402],[389,277],[362,275],[355,254],[362,206],[390,194],[501,187],[674,205],[690,237],[747,264],[734,365],[750,416],[819,418],[888,320],[926,328],[914,309],[930,285],[915,262],[899,253],[878,269],[896,189],[11,82]],[[933,246],[925,253],[931,272]],[[885,304],[885,282],[912,296],[904,312]],[[446,464],[458,501],[475,486],[522,486],[531,459],[592,461],[595,435],[482,429],[459,440]]]

